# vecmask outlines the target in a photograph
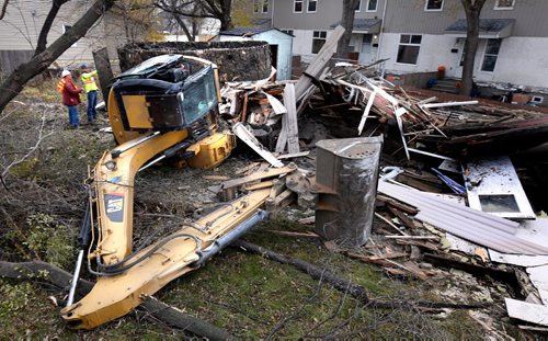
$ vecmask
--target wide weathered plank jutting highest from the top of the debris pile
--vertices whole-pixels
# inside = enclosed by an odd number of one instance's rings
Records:
[[[333,30],[333,32],[331,32],[331,35],[326,41],[326,44],[323,44],[316,59],[310,62],[306,71],[302,76],[300,76],[297,84],[295,86],[295,98],[297,101],[300,100],[306,90],[310,87],[310,83],[312,82],[311,78],[318,78],[321,75],[326,65],[329,62],[329,59],[331,59],[333,54],[336,52],[336,44],[343,36],[344,31],[344,27],[339,25],[335,30]]]

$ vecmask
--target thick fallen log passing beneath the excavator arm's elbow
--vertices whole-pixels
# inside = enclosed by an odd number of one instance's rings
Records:
[[[23,263],[11,263],[0,261],[0,277],[11,279],[15,281],[36,281],[47,282],[61,289],[68,288],[72,280],[72,275],[54,264],[34,261]],[[83,297],[93,287],[93,283],[85,280],[79,280],[77,286],[77,295]],[[228,331],[219,329],[204,320],[184,314],[183,311],[171,307],[150,296],[144,296],[144,300],[139,309],[149,312],[155,318],[190,331],[196,336],[210,340],[228,340],[235,339]]]

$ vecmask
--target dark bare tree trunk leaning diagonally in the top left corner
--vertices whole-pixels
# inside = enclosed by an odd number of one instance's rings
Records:
[[[0,84],[0,113],[5,105],[23,90],[24,84],[34,76],[47,69],[65,50],[85,35],[88,30],[112,8],[115,0],[96,0],[93,5],[65,34],[49,47],[21,64],[2,84]]]

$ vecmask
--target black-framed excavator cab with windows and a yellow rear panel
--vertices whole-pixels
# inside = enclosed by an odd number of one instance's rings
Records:
[[[150,58],[114,79],[114,137],[123,144],[150,130],[189,129],[201,140],[215,129],[219,96],[215,64],[182,55]]]

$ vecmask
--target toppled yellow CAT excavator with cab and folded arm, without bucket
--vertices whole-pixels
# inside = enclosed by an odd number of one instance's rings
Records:
[[[80,252],[67,307],[61,310],[71,327],[92,329],[128,314],[141,303],[141,295],[152,295],[204,265],[267,216],[261,207],[272,197],[272,189],[259,185],[175,232],[133,250],[137,172],[162,160],[210,169],[235,148],[235,136],[219,127],[219,101],[217,67],[197,57],[153,57],[114,79],[107,111],[117,146],[103,155],[90,174]],[[265,171],[260,178],[290,171]],[[96,282],[75,303],[80,268],[85,263]]]

